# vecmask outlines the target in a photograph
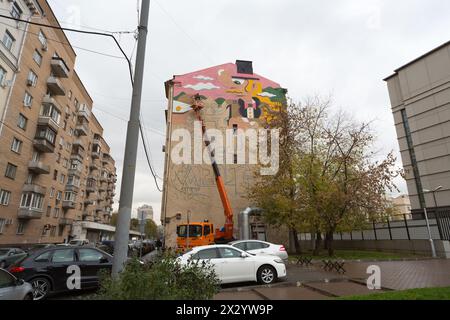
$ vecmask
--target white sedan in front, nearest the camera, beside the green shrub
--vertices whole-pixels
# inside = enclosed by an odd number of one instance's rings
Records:
[[[179,257],[182,264],[189,260],[211,263],[221,283],[258,281],[270,284],[286,277],[286,266],[280,258],[252,255],[230,245],[195,247]]]

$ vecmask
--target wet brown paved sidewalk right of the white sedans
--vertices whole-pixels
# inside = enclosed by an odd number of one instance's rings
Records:
[[[320,265],[288,266],[287,281],[273,286],[224,289],[216,300],[324,300],[383,292],[366,286],[367,267],[381,268],[387,290],[450,286],[450,260],[348,262],[345,275],[323,271]]]

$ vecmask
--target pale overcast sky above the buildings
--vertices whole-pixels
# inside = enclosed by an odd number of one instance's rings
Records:
[[[48,0],[66,27],[130,31],[137,26],[136,0]],[[375,120],[380,155],[398,154],[383,78],[450,39],[450,1],[442,0],[152,0],[142,115],[152,163],[163,175],[166,99],[164,81],[236,59],[289,90],[298,101],[332,95],[334,106],[355,118]],[[94,99],[94,112],[116,159],[118,207],[131,86],[125,60],[108,39],[67,34],[76,69]],[[128,54],[130,34],[119,36]],[[401,162],[399,161],[399,164]],[[405,183],[399,181],[403,192]],[[159,220],[155,187],[142,145],[134,209],[150,204]],[[135,212],[134,212],[135,214]]]

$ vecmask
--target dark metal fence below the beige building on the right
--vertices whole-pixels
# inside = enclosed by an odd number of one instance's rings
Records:
[[[434,240],[450,240],[450,211],[438,211],[429,219]],[[299,234],[299,240],[311,240],[310,233]],[[396,216],[385,222],[369,223],[363,230],[339,232],[335,240],[425,240],[429,239],[425,219],[409,220],[406,215]]]

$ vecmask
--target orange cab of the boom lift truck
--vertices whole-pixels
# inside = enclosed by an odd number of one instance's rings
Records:
[[[189,226],[189,229],[188,229]],[[189,237],[188,237],[189,236]],[[194,222],[177,226],[177,251],[214,244],[214,226],[209,222]]]

